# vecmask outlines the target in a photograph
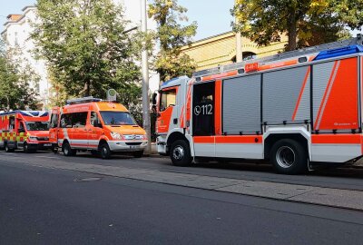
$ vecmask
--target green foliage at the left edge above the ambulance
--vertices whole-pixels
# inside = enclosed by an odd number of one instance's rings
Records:
[[[20,67],[19,63],[11,59],[11,53],[5,53],[0,47],[0,111],[7,106],[11,110],[35,110],[38,103],[33,86],[38,81],[28,64]]]

